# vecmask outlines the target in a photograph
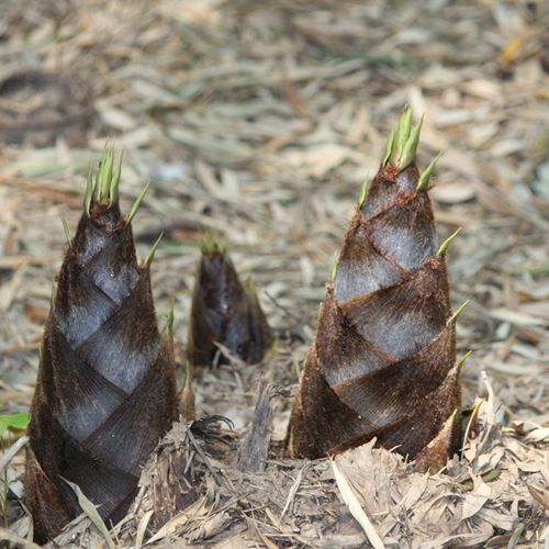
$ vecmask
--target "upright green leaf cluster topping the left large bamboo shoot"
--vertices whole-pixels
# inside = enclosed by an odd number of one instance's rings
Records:
[[[93,169],[90,166],[85,198],[85,211],[88,215],[90,215],[93,203],[107,205],[108,208],[117,204],[122,158],[123,154],[120,155],[119,164],[114,171],[114,147],[107,142],[94,177]]]

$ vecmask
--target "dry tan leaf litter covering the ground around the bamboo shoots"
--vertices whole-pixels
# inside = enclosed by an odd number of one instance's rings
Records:
[[[0,93],[3,412],[29,408],[65,247],[60,214],[76,225],[89,164],[111,137],[125,149],[122,200],[130,204],[152,180],[136,238],[144,257],[165,232],[153,283],[159,316],[175,302],[180,359],[206,229],[222,233],[240,273],[253,274],[279,336],[260,367],[199,372],[198,417],[227,416],[245,429],[261,376],[279,388],[271,403],[280,442],[345,232],[340,220],[350,219],[384,135],[410,104],[425,113],[419,165],[445,152],[433,190],[440,237],[464,227],[449,250],[455,309],[471,300],[458,323],[459,352],[474,351],[463,369],[464,403],[485,394],[484,370],[501,403],[494,425],[502,426],[490,428],[484,447],[472,441],[477,457],[466,452],[449,475],[407,475],[408,464],[369,446],[336,463],[388,547],[422,547],[439,517],[450,525],[437,534],[440,544],[535,547],[534,525],[541,533],[549,520],[540,453],[549,438],[548,18],[542,1],[433,0],[419,10],[381,0],[65,0],[22,11],[4,0],[0,81],[25,70],[69,74],[93,115],[75,141],[60,131],[44,141],[29,130],[12,143],[2,124],[13,110],[21,117],[52,98],[37,89],[22,111],[16,97]],[[392,467],[394,490],[366,497],[377,477],[365,486],[352,473],[361,463],[371,475]],[[7,469],[13,493],[23,467],[21,452]],[[495,469],[496,479],[482,477]],[[166,539],[184,535],[200,545],[223,530],[239,548],[363,546],[329,461],[279,460],[265,477],[226,474],[242,498],[221,492],[212,500],[225,484],[212,485]],[[260,498],[272,483],[279,492],[271,507]],[[427,508],[436,490],[460,495],[444,492]],[[131,544],[150,540],[150,524],[134,527]]]

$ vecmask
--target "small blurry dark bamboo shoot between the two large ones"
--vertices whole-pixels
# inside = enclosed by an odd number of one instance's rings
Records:
[[[272,343],[250,281],[243,284],[227,253],[205,243],[192,296],[187,357],[194,366],[223,361],[216,344],[248,363],[259,362]]]

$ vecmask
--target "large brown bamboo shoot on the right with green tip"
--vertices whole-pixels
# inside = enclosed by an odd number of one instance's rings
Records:
[[[426,192],[434,164],[423,175],[415,166],[421,123],[412,128],[410,119],[406,111],[389,138],[326,287],[290,422],[294,456],[372,437],[412,458],[437,435],[437,455],[440,444],[444,458],[455,449],[460,386],[447,244],[438,246]]]

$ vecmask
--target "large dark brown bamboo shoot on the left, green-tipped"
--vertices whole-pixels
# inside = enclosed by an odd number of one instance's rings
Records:
[[[177,417],[171,328],[158,332],[152,255],[137,262],[132,214],[125,219],[117,204],[119,179],[107,152],[45,326],[26,471],[41,541],[80,513],[64,479],[105,520],[122,518],[141,466]]]

